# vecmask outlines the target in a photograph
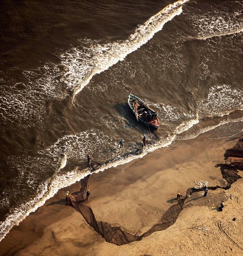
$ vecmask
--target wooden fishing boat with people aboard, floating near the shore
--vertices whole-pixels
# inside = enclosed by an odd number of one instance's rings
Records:
[[[127,101],[137,121],[141,121],[152,128],[158,129],[158,113],[135,95],[129,94]]]

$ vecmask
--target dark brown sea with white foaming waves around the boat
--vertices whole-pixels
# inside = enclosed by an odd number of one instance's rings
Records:
[[[59,189],[243,130],[243,1],[1,0],[0,240]],[[159,140],[127,104],[158,111]],[[125,147],[118,149],[123,138]]]

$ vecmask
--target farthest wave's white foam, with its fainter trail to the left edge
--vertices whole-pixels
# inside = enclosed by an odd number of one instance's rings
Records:
[[[74,47],[59,56],[64,73],[60,70],[60,65],[50,62],[43,67],[24,71],[27,82],[22,84],[21,92],[15,89],[19,83],[7,78],[7,83],[11,81],[14,86],[11,88],[7,84],[2,87],[4,96],[0,96],[0,108],[4,110],[3,117],[8,121],[20,117],[24,120],[36,118],[39,113],[44,113],[45,106],[39,104],[43,98],[61,99],[70,91],[74,95],[78,94],[95,74],[124,60],[128,54],[150,40],[166,22],[182,12],[182,6],[187,1],[189,0],[179,0],[165,7],[140,25],[127,40],[103,44],[96,40],[81,40],[81,49]]]

